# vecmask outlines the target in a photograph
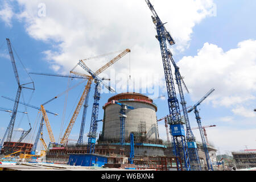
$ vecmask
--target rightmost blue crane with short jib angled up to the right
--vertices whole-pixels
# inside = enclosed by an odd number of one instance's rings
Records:
[[[188,109],[188,113],[190,113],[192,110],[194,110],[194,113],[196,115],[196,121],[197,121],[197,124],[199,127],[199,131],[200,131],[200,135],[201,135],[201,139],[202,139],[202,143],[203,143],[203,147],[204,147],[204,153],[205,153],[205,157],[206,157],[206,161],[207,161],[207,167],[208,167],[208,170],[210,170],[210,171],[213,171],[213,167],[212,167],[212,163],[210,162],[209,152],[208,152],[208,148],[207,148],[207,142],[204,137],[204,131],[203,131],[203,127],[201,125],[201,118],[199,116],[199,111],[197,110],[197,106],[199,106],[201,104],[201,102],[203,102],[205,100],[205,98],[207,98],[213,91],[214,91],[214,88],[210,89],[209,92],[207,94],[205,94],[205,96],[203,98],[201,98],[200,101],[198,101],[194,106],[192,106],[190,109]]]

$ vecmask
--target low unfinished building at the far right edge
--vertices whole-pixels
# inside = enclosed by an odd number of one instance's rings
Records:
[[[232,152],[238,169],[256,167],[256,149]]]

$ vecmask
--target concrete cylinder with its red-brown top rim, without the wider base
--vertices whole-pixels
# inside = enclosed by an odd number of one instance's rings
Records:
[[[120,105],[112,104],[112,101],[134,107],[127,110],[125,119],[125,139],[129,140],[131,132],[139,134],[146,140],[158,140],[158,124],[156,122],[157,107],[153,101],[139,93],[120,93],[110,97],[104,105],[104,123],[102,129],[103,140],[118,140],[120,137]]]

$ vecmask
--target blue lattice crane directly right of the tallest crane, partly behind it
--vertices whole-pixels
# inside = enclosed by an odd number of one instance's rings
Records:
[[[170,50],[168,50],[168,56],[170,60],[172,61],[172,64],[174,65],[175,68],[175,78],[176,78],[176,83],[179,89],[179,94],[180,94],[180,104],[182,106],[183,110],[183,115],[185,119],[185,125],[186,125],[186,139],[188,143],[188,154],[189,154],[189,161],[191,164],[191,169],[193,171],[201,171],[201,164],[200,164],[200,159],[199,159],[199,154],[197,151],[197,146],[196,146],[196,138],[194,137],[191,126],[189,123],[189,118],[188,118],[188,111],[187,111],[187,102],[185,101],[184,94],[183,94],[183,89],[181,83],[184,85],[184,88],[187,90],[187,86],[185,85],[183,78],[180,75],[179,67],[176,65],[174,59],[172,59],[172,53]],[[189,93],[189,92],[188,92]]]

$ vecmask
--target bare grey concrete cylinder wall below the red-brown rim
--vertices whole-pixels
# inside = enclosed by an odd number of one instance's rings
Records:
[[[126,113],[126,138],[129,138],[132,131],[138,131],[142,121],[146,122],[146,137],[148,139],[158,139],[155,107],[144,102],[124,101],[123,103],[134,107],[133,110],[128,109]],[[110,104],[105,107],[104,128],[102,129],[104,139],[118,139],[120,137],[120,108],[121,106],[117,104]]]

